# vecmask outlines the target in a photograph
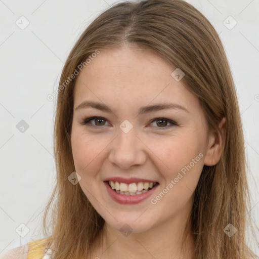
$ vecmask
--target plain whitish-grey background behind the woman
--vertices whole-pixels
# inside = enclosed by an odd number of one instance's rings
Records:
[[[55,102],[47,95],[57,89],[64,62],[81,32],[115,2],[0,0],[0,252],[42,238],[37,226],[55,179]],[[187,2],[218,31],[231,65],[251,168],[250,213],[259,226],[259,1]],[[26,22],[29,25],[23,28]],[[17,128],[21,120],[29,126],[24,133]]]

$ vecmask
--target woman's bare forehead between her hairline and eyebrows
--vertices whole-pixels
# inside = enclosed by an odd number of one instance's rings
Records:
[[[77,77],[74,103],[87,99],[110,107],[135,107],[175,102],[193,109],[199,105],[198,99],[171,76],[175,69],[152,51],[129,47],[100,50]]]

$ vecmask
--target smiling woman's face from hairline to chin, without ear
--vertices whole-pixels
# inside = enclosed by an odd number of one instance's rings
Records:
[[[198,98],[171,76],[175,69],[151,51],[123,47],[100,50],[77,77],[75,169],[82,191],[113,229],[128,224],[144,232],[181,220],[191,209],[206,157],[206,122]],[[108,108],[82,105],[85,101]],[[147,108],[166,103],[174,105]],[[106,182],[112,178],[130,195],[115,192]],[[136,186],[147,186],[139,182],[158,184],[131,195]]]

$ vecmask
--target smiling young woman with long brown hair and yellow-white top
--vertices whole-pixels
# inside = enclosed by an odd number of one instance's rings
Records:
[[[76,42],[57,92],[47,238],[17,253],[258,258],[245,239],[250,203],[235,86],[217,32],[193,6],[109,8]]]

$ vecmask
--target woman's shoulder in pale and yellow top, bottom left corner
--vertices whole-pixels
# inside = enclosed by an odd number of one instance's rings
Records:
[[[46,255],[45,244],[44,238],[32,240],[26,245],[0,253],[0,259],[43,259]]]

